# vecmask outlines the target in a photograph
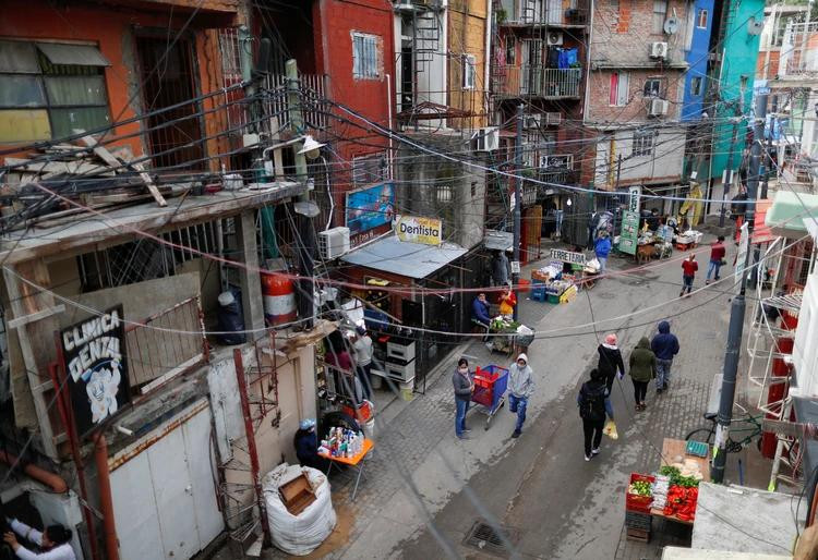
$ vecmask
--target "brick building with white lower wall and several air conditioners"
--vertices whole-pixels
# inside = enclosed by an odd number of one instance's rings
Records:
[[[665,193],[682,178],[690,2],[596,3],[585,122],[584,175],[596,188],[643,185]]]

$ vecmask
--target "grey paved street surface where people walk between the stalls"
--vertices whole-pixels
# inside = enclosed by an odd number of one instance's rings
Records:
[[[611,265],[627,266],[619,259]],[[660,558],[661,546],[684,545],[689,535],[675,526],[655,524],[649,544],[626,540],[623,529],[629,473],[655,470],[664,437],[682,439],[703,423],[710,380],[722,366],[727,295],[708,291],[676,300],[677,268],[678,263],[663,263],[603,280],[566,305],[522,302],[524,322],[549,333],[529,349],[537,388],[518,440],[509,438],[514,417],[506,410],[488,430],[480,429],[484,416],[470,412],[472,439],[454,437],[448,373],[459,352],[474,356],[478,364],[505,364],[508,358],[490,357],[479,341],[449,355],[424,395],[416,395],[387,425],[377,426],[377,447],[354,502],[352,473],[333,475],[333,501],[344,523],[312,556],[490,558],[488,549],[465,544],[479,520],[506,527],[512,540],[507,545],[522,558]],[[698,280],[697,287],[701,283]],[[591,309],[593,318],[602,320],[662,302],[667,303],[602,328],[617,330],[627,358],[638,339],[653,332],[658,319],[673,316],[683,350],[674,362],[672,388],[655,395],[651,387],[648,410],[635,413],[629,379],[618,384],[613,403],[621,437],[616,442],[605,440],[601,455],[586,463],[575,395],[596,363],[602,332],[586,328],[581,334],[564,336],[560,326],[590,324]],[[727,476],[734,470],[729,463]]]

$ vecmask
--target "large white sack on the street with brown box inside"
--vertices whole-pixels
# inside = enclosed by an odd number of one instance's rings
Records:
[[[278,487],[303,472],[315,492],[315,501],[300,514],[293,515],[278,494]],[[309,466],[290,466],[282,463],[262,479],[267,522],[273,544],[296,556],[306,556],[326,539],[335,528],[335,510],[329,494],[329,482],[321,471]]]

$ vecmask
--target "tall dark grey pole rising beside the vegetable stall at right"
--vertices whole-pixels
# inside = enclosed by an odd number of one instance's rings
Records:
[[[765,134],[765,117],[767,114],[767,95],[756,98],[756,114],[753,127],[753,148],[750,149],[749,173],[747,181],[747,241],[753,239],[753,227],[756,221],[756,197],[758,196],[758,170],[761,165],[761,146]],[[736,263],[738,266],[738,263]],[[727,351],[724,354],[723,380],[721,386],[721,401],[719,402],[718,426],[715,428],[715,454],[713,455],[712,478],[715,483],[724,480],[724,466],[727,462],[727,437],[730,423],[733,418],[733,401],[735,399],[735,382],[738,373],[738,356],[744,330],[744,314],[746,309],[745,293],[747,282],[745,275],[749,266],[749,251],[744,256],[742,277],[738,278],[739,292],[733,299],[730,307],[730,330],[727,331]]]

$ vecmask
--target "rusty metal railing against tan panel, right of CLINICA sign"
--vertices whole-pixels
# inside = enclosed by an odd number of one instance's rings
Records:
[[[207,360],[199,296],[125,327],[131,387],[151,388]]]

